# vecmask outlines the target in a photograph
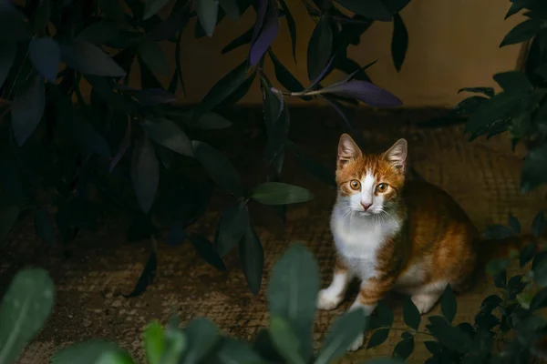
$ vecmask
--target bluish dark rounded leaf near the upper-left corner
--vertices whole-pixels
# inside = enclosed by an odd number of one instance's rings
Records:
[[[33,38],[28,45],[28,57],[40,75],[49,82],[56,82],[61,62],[61,51],[54,39],[49,37]]]

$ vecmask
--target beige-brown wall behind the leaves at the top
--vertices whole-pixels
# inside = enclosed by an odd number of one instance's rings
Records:
[[[288,0],[288,4],[298,25],[298,63],[294,64],[283,19],[273,48],[284,65],[306,85],[306,48],[314,22],[305,14],[301,1]],[[515,68],[521,47],[498,47],[503,36],[521,21],[520,15],[503,20],[510,4],[507,0],[414,0],[402,12],[408,27],[409,46],[400,73],[391,62],[391,23],[372,25],[361,45],[349,50],[349,56],[361,65],[378,58],[377,64],[369,69],[369,76],[378,86],[399,96],[405,106],[453,106],[464,97],[457,94],[460,87],[494,86],[491,78],[494,73]],[[226,18],[212,38],[199,40],[193,38],[193,23],[187,27],[181,49],[187,87],[187,97],[181,96],[183,103],[200,102],[222,75],[243,61],[247,46],[224,56],[220,56],[220,51],[222,46],[247,30],[253,20],[252,10],[239,23]],[[165,49],[172,59],[172,49]],[[266,72],[274,74],[269,59]],[[330,79],[340,76],[334,74]],[[259,102],[261,94],[255,82],[242,103]]]

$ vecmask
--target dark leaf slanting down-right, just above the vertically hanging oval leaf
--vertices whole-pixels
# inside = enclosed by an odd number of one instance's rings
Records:
[[[182,156],[193,157],[190,138],[172,121],[157,117],[152,121],[146,120],[143,126],[150,139],[156,143]]]

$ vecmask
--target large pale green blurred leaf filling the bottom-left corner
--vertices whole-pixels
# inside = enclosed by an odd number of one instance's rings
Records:
[[[53,308],[55,287],[46,270],[23,268],[0,304],[0,364],[15,363],[42,329]]]

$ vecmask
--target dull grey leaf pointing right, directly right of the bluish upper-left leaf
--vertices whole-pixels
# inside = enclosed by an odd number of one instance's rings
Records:
[[[123,77],[126,72],[106,53],[87,42],[68,41],[59,45],[61,60],[83,74]]]

